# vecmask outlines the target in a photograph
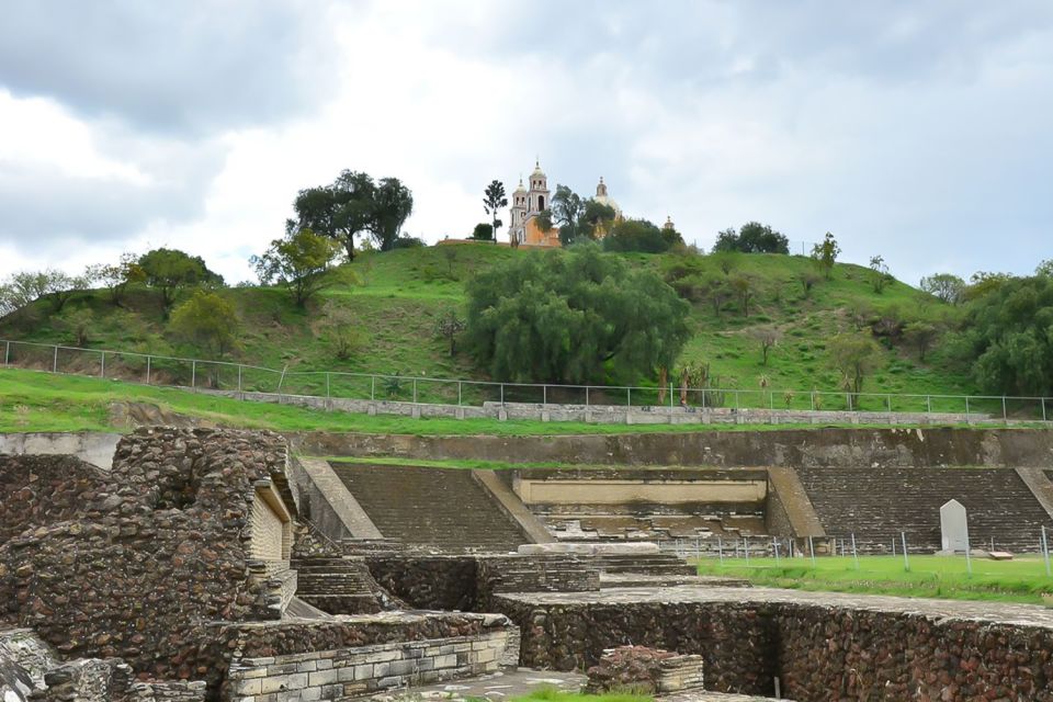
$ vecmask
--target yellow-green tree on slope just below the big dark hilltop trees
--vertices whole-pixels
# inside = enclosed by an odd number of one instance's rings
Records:
[[[291,228],[284,238],[272,240],[263,256],[250,258],[249,264],[256,269],[261,283],[281,283],[292,293],[296,304],[304,307],[321,288],[326,271],[338,251],[337,242],[327,237],[310,229]]]

